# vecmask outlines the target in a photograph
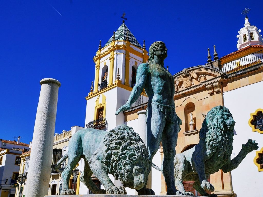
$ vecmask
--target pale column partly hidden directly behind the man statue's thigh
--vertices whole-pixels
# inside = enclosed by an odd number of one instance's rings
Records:
[[[146,144],[146,139],[147,139],[146,110],[138,111],[137,114],[138,114],[138,131],[137,132],[140,135],[141,139],[143,140],[145,146],[147,147],[147,144]],[[146,188],[151,188],[151,171],[148,176]]]

